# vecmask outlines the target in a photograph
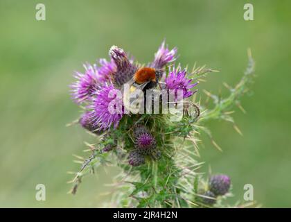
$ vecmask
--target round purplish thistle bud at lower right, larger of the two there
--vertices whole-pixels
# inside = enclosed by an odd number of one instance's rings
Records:
[[[231,180],[227,175],[214,175],[209,180],[209,190],[216,196],[227,194],[230,185]]]

